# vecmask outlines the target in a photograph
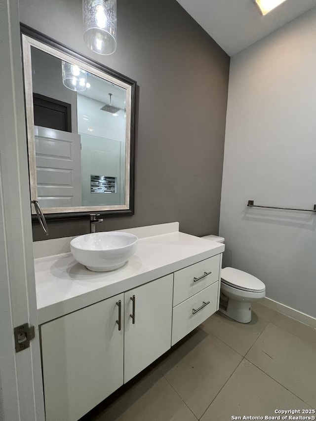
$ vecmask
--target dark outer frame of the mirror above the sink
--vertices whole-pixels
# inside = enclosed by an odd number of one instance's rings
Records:
[[[85,63],[98,71],[105,73],[111,77],[115,77],[116,79],[130,85],[131,87],[131,115],[130,115],[130,162],[129,162],[129,203],[127,209],[119,209],[119,210],[100,210],[97,209],[90,210],[90,211],[80,211],[80,212],[60,212],[60,213],[45,213],[45,219],[47,220],[67,220],[67,219],[82,219],[83,217],[89,216],[91,213],[98,213],[103,216],[129,216],[134,215],[134,180],[135,180],[135,113],[136,113],[136,86],[137,82],[129,77],[126,77],[109,67],[92,60],[81,53],[78,53],[75,50],[72,50],[68,46],[62,44],[59,41],[56,41],[53,38],[47,37],[46,35],[34,30],[33,28],[20,23],[20,31],[21,31],[21,49],[22,49],[22,58],[23,58],[23,48],[22,48],[22,36],[26,35],[30,38],[33,38],[37,41],[40,41],[43,44],[48,45],[56,50],[59,50],[62,53],[69,55],[70,57],[80,60],[82,63]],[[22,59],[22,66],[23,66],[23,59]],[[24,74],[24,68],[23,68]],[[25,89],[25,80],[24,80],[24,100],[26,99],[26,89]],[[25,103],[25,110],[26,110],[26,123],[27,123],[27,106]],[[31,195],[31,187],[30,187],[30,195]],[[94,207],[96,208],[96,207]],[[37,221],[37,215],[32,213],[32,221]]]

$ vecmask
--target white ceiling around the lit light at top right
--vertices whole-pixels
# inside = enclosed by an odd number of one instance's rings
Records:
[[[262,16],[253,0],[177,0],[233,56],[316,6],[316,0],[286,0]]]

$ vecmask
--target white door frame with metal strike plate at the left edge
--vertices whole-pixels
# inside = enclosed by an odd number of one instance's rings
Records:
[[[0,420],[43,421],[17,0],[0,1]],[[35,326],[16,353],[13,329]]]

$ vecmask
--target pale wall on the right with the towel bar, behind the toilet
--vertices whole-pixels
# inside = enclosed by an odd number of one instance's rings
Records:
[[[316,9],[231,59],[220,235],[224,266],[316,317]]]

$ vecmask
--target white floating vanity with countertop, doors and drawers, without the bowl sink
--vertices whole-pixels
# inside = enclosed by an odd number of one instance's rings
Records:
[[[224,244],[178,229],[135,229],[137,254],[107,273],[74,261],[69,239],[38,245],[46,421],[78,421],[218,309]]]

